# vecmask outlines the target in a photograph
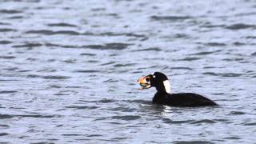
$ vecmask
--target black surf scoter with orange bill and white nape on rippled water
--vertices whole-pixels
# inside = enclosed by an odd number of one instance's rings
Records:
[[[154,94],[153,103],[162,104],[167,106],[217,106],[217,103],[213,102],[209,98],[203,97],[194,93],[170,93],[170,82],[165,74],[155,72],[149,74],[146,77],[138,79],[142,89],[148,89],[154,86],[157,89],[157,93]]]

